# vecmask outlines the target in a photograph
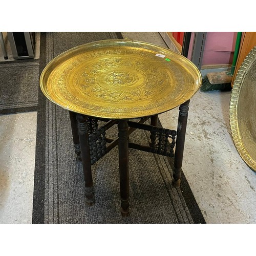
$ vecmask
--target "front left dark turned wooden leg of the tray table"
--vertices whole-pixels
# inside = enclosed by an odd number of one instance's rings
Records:
[[[77,114],[77,124],[81,148],[82,169],[86,189],[86,203],[89,206],[92,206],[94,204],[95,199],[93,190],[87,117],[81,114]]]

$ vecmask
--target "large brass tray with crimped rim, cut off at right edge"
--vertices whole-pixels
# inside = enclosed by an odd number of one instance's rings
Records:
[[[240,156],[256,171],[256,46],[246,56],[234,80],[229,120]]]

